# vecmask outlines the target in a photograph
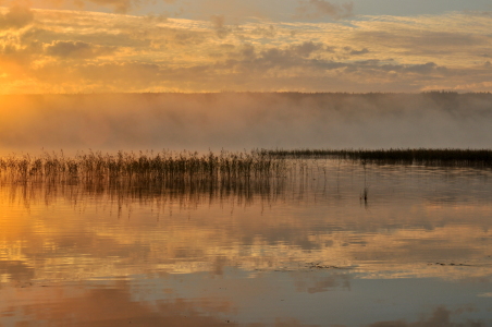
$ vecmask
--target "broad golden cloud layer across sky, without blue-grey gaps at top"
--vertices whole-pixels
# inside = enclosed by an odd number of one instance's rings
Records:
[[[10,11],[0,11],[2,17]],[[229,13],[202,21],[83,11],[34,14],[30,25],[2,32],[3,93],[491,90],[485,83],[491,60],[478,57],[488,53],[491,40],[481,26],[490,22],[475,24],[480,19],[475,15],[358,17],[354,26],[271,21],[236,26]],[[452,22],[466,22],[467,29]],[[95,58],[97,63],[88,65]]]

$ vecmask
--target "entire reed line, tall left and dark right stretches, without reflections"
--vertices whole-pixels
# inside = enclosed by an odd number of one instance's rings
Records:
[[[304,167],[303,159],[331,158],[366,164],[492,166],[490,149],[255,149],[219,154],[193,152],[100,152],[65,156],[10,155],[0,157],[0,174],[17,181],[73,180],[217,180],[269,179],[288,174],[290,162]],[[292,160],[294,159],[294,160]]]

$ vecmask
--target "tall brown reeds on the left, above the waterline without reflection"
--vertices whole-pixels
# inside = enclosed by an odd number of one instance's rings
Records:
[[[17,180],[53,178],[79,179],[244,179],[270,178],[285,173],[286,160],[268,152],[243,153],[153,152],[115,155],[100,152],[78,153],[65,157],[63,153],[46,153],[40,157],[8,156],[0,158],[0,173]]]

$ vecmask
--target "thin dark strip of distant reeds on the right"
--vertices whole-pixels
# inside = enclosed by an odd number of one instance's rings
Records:
[[[284,159],[334,158],[380,165],[492,167],[491,149],[274,149],[265,152]]]

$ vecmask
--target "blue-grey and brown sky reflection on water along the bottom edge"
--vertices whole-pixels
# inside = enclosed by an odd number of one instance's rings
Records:
[[[244,278],[150,275],[2,289],[2,323],[51,326],[489,326],[482,283],[357,279],[317,271]],[[292,279],[295,280],[292,284]],[[300,279],[300,281],[299,281]],[[305,283],[304,283],[305,282]],[[321,292],[317,290],[323,289]]]

